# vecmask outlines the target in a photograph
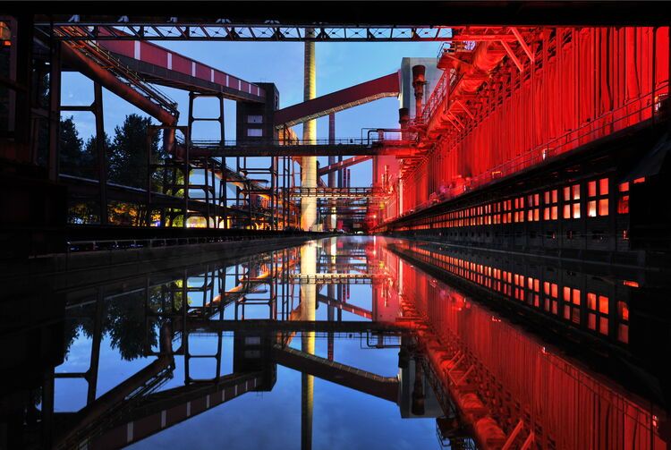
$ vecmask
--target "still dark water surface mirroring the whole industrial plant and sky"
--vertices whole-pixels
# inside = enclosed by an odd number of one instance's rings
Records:
[[[657,283],[338,237],[47,289],[3,335],[5,442],[665,449]]]

